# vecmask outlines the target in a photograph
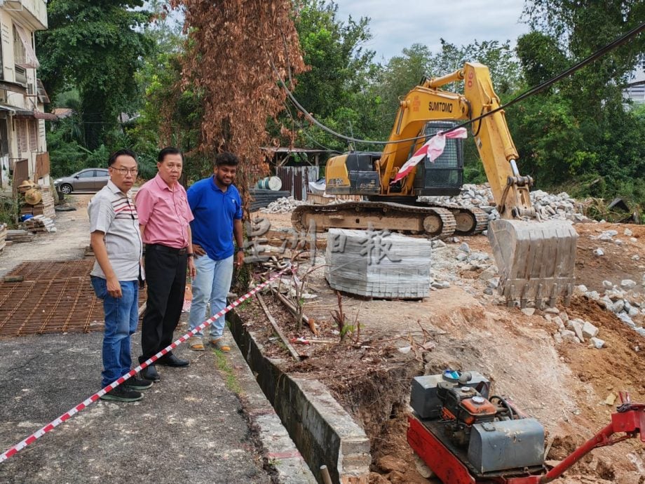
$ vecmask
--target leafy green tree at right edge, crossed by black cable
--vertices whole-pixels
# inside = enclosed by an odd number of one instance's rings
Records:
[[[533,0],[525,13],[536,30],[518,39],[517,55],[535,86],[639,25],[645,4]],[[507,111],[520,166],[538,186],[643,205],[645,123],[625,109],[622,88],[644,51],[645,37],[634,37]]]

